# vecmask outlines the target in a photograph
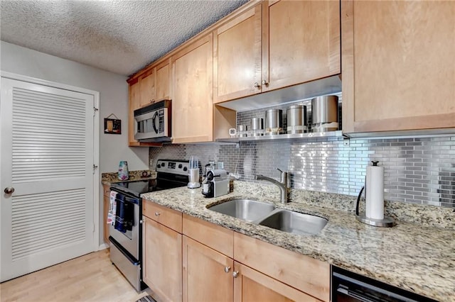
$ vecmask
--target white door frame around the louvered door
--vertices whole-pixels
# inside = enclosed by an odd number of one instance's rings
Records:
[[[62,84],[57,82],[48,81],[45,79],[38,79],[35,77],[28,77],[22,74],[15,74],[12,72],[4,72],[0,70],[0,77],[6,79],[14,79],[17,81],[28,82],[33,84],[39,84],[43,86],[50,86],[58,89],[65,89],[82,94],[89,94],[93,96],[94,109],[93,109],[93,164],[95,169],[93,170],[93,242],[92,251],[102,250],[104,247],[100,245],[100,92],[90,89],[85,89],[77,86],[71,86],[68,84]],[[1,81],[1,78],[0,78]],[[1,149],[0,149],[1,152]],[[1,174],[0,174],[1,177]],[[1,179],[0,179],[1,183]],[[1,242],[1,233],[0,233]]]

